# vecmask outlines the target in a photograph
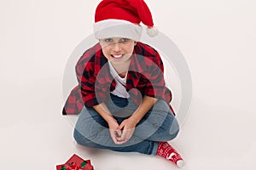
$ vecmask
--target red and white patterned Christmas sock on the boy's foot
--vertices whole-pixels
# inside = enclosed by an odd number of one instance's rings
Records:
[[[183,167],[183,158],[172,148],[172,145],[167,142],[159,142],[156,155],[174,162],[177,167]]]

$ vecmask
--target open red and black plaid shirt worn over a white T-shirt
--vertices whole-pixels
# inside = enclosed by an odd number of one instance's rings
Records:
[[[172,93],[166,88],[163,72],[160,54],[147,44],[137,42],[126,80],[126,90],[137,105],[144,95],[170,104]],[[79,85],[69,94],[63,115],[79,114],[84,105],[92,107],[105,102],[116,87],[99,43],[84,52],[76,65],[76,74]],[[171,105],[170,109],[174,114]]]

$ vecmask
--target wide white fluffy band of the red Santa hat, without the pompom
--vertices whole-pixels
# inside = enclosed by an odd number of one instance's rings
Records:
[[[126,37],[134,41],[139,41],[143,27],[133,24],[127,20],[101,20],[93,25],[96,39],[108,37]]]

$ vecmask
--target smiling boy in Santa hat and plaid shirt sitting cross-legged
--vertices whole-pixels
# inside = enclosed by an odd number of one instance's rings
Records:
[[[103,0],[96,8],[99,40],[76,65],[79,85],[63,114],[79,113],[74,139],[87,147],[157,155],[183,166],[166,141],[179,131],[163,63],[154,48],[139,42],[140,22],[154,36],[152,15],[143,0]]]

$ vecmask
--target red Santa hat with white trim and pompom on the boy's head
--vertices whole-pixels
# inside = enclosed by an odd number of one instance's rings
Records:
[[[102,0],[96,8],[95,37],[126,37],[139,41],[143,32],[140,22],[148,27],[148,36],[157,35],[152,14],[143,0]]]

